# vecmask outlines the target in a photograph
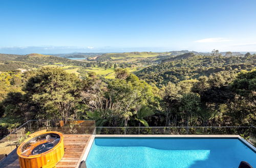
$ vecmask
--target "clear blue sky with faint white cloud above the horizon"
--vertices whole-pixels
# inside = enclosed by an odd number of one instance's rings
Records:
[[[256,51],[255,0],[0,0],[0,53]]]

